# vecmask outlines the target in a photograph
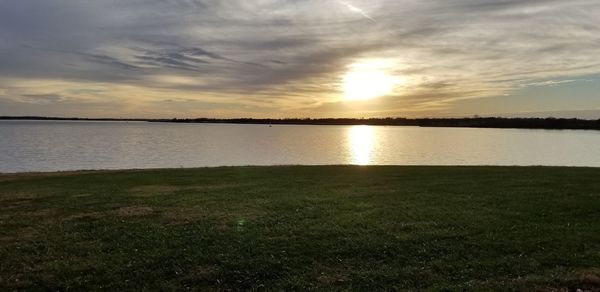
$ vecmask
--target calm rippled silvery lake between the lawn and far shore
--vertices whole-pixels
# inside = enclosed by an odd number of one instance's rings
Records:
[[[281,164],[600,167],[600,131],[0,121],[0,172]]]

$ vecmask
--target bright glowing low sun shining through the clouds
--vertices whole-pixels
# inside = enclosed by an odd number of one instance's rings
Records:
[[[355,63],[344,76],[343,92],[346,100],[364,100],[382,97],[394,91],[400,78],[388,71],[389,62],[372,60]]]

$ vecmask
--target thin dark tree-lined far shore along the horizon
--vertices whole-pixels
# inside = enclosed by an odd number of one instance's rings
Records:
[[[564,118],[322,118],[322,119],[116,119],[116,118],[67,118],[40,116],[0,116],[0,120],[43,120],[43,121],[123,121],[155,123],[210,123],[210,124],[265,124],[265,125],[369,125],[369,126],[418,126],[418,127],[462,127],[462,128],[512,128],[547,130],[600,130],[600,119]]]

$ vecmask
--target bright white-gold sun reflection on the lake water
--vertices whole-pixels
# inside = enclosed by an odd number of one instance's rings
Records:
[[[351,157],[350,163],[369,165],[373,163],[373,142],[375,133],[373,127],[353,126],[348,130]]]

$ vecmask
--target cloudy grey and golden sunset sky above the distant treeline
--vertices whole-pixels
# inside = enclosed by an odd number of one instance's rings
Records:
[[[600,118],[598,0],[0,0],[0,115]]]

